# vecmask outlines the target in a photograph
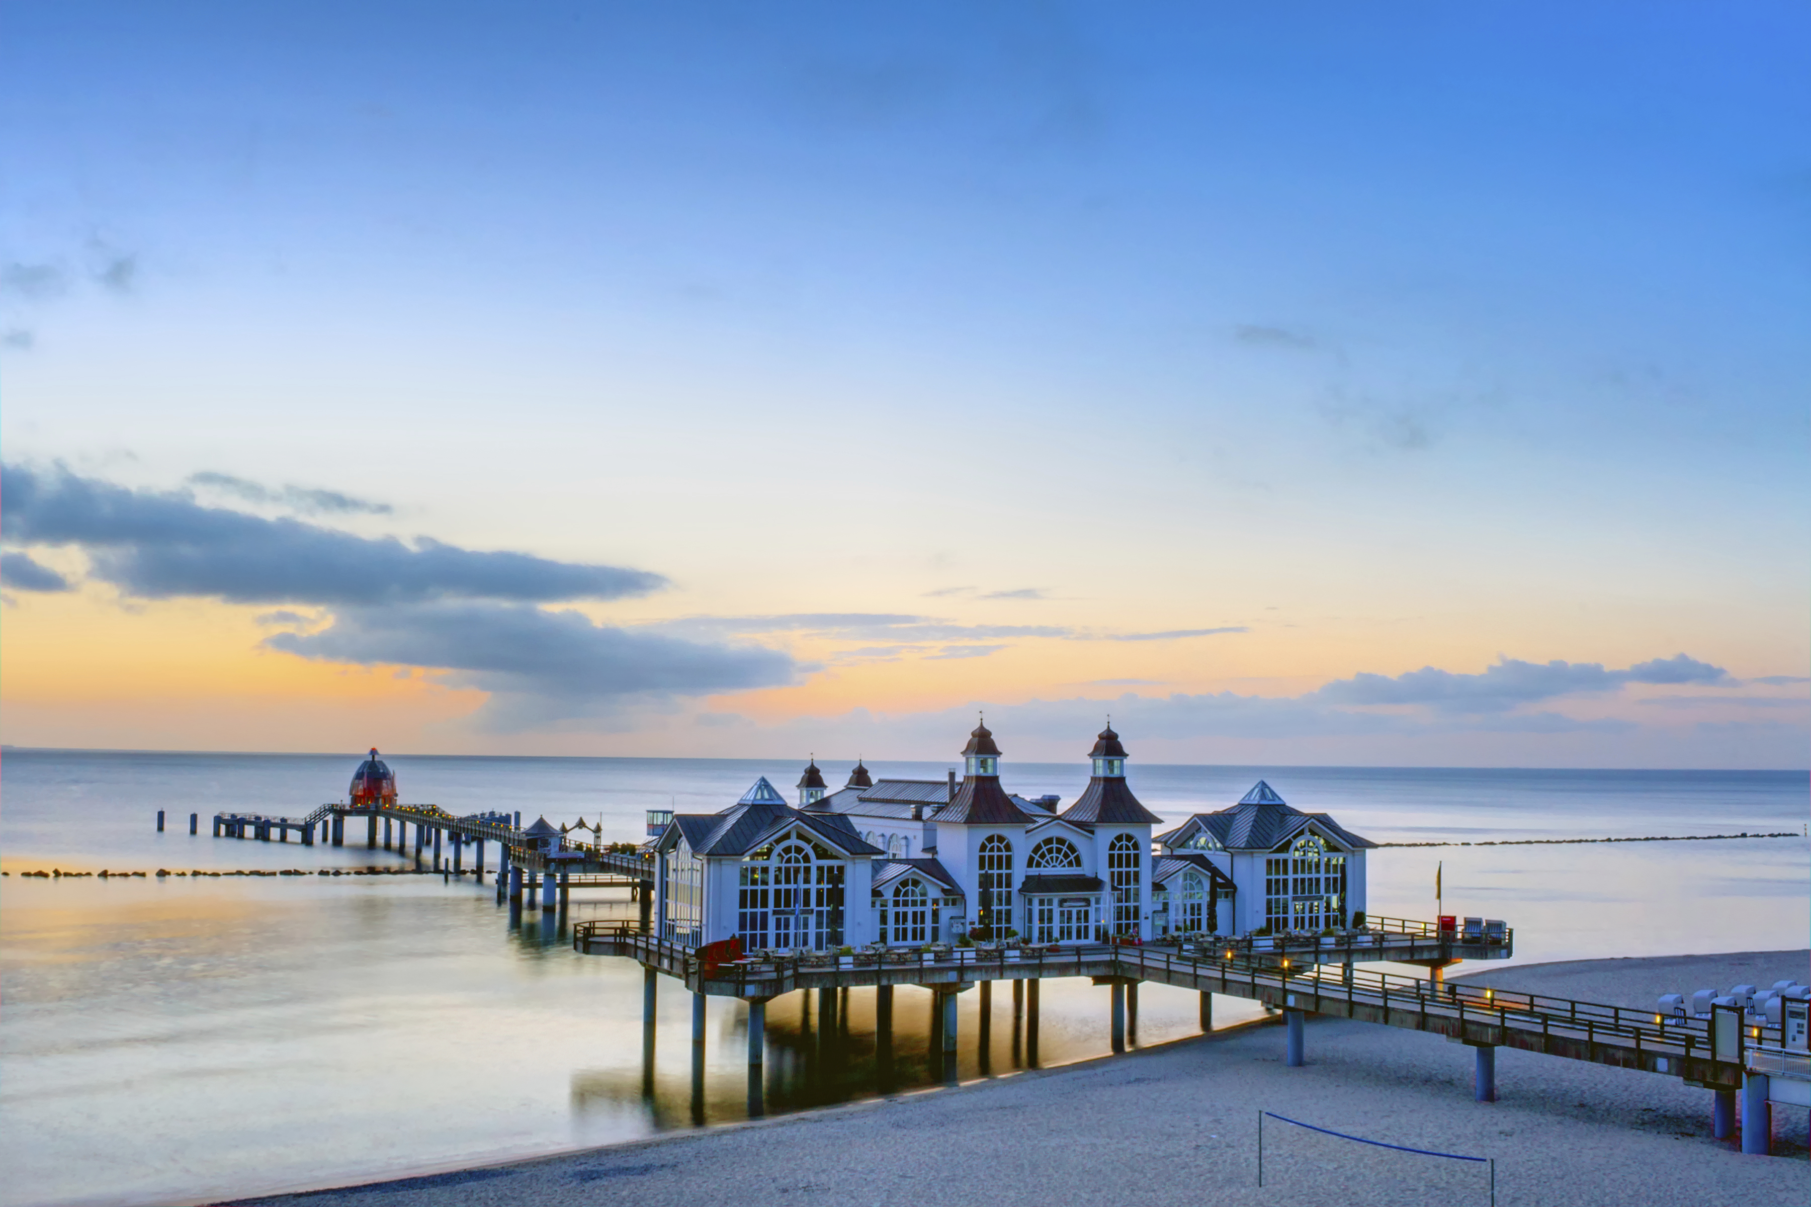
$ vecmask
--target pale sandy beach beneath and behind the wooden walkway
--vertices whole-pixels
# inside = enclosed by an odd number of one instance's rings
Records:
[[[1811,951],[1572,961],[1476,980],[1646,1006],[1659,993],[1806,979]],[[1777,1111],[1773,1158],[1710,1135],[1710,1093],[1675,1078],[1498,1055],[1496,1104],[1472,1100],[1472,1055],[1440,1037],[1338,1019],[1308,1024],[1308,1067],[1248,1026],[1163,1048],[826,1111],[552,1158],[259,1203],[989,1202],[1485,1203],[1485,1167],[1335,1140],[1257,1115],[1442,1153],[1496,1158],[1498,1202],[1804,1202],[1807,1120]]]

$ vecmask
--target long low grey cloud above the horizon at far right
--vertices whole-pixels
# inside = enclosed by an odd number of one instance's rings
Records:
[[[1509,712],[1521,705],[1557,696],[1610,692],[1624,683],[1717,683],[1728,678],[1722,667],[1695,658],[1655,658],[1626,671],[1606,671],[1595,661],[1521,661],[1500,658],[1481,674],[1454,674],[1422,667],[1389,678],[1360,672],[1335,680],[1308,698],[1331,705],[1425,705],[1449,714]]]

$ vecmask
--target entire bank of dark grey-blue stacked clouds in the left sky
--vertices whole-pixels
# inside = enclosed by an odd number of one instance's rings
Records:
[[[313,511],[375,509],[333,491],[273,491],[228,475],[206,475],[203,484]],[[127,596],[331,609],[326,629],[275,632],[264,645],[302,658],[447,672],[455,685],[491,692],[480,721],[494,729],[608,716],[632,700],[773,687],[799,671],[771,649],[596,625],[574,611],[536,607],[666,585],[647,571],[460,549],[426,536],[409,544],[357,536],[65,469],[0,469],[0,538],[74,546],[87,555],[92,578]],[[24,553],[7,553],[0,575],[22,591],[69,585]],[[288,609],[259,620],[310,623]]]

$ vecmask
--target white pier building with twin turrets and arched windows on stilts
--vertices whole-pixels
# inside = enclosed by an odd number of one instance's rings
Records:
[[[1068,808],[1000,785],[987,725],[963,776],[875,781],[862,763],[829,790],[813,759],[790,805],[766,777],[719,814],[659,832],[659,937],[739,939],[744,951],[963,941],[1090,944],[1170,933],[1322,932],[1364,910],[1373,843],[1259,783],[1235,806],[1152,839],[1161,817],[1126,783],[1112,727]]]

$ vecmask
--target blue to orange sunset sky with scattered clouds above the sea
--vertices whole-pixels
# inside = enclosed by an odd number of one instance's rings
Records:
[[[1811,763],[1804,5],[0,29],[9,745]]]

